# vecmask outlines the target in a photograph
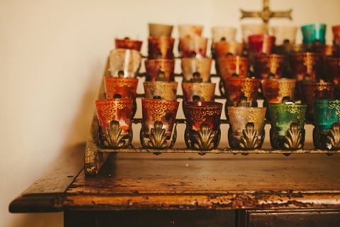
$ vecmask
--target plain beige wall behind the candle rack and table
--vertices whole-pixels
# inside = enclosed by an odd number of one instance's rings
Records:
[[[294,9],[293,22],[277,24],[340,23],[339,0],[271,6]],[[238,27],[240,7],[260,9],[261,1],[1,0],[0,226],[62,226],[62,214],[8,214],[8,204],[84,142],[113,38],[145,40],[148,22],[200,23],[209,36],[214,25]]]

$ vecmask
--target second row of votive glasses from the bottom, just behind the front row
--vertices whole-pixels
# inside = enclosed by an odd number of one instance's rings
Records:
[[[162,74],[162,73],[161,73]],[[159,75],[158,79],[164,75]],[[135,100],[138,79],[103,77],[106,99],[121,97]],[[166,101],[176,101],[178,82],[147,81],[144,82],[145,98],[153,99],[155,96]],[[313,119],[313,101],[315,99],[335,99],[335,85],[330,82],[314,82],[304,80],[296,84],[295,79],[270,78],[255,79],[251,77],[239,77],[236,74],[220,80],[220,92],[226,98],[226,106],[235,106],[240,99],[246,99],[251,107],[257,107],[259,90],[264,96],[264,106],[270,103],[283,101],[295,101],[297,90],[302,94],[300,98],[303,104],[307,104],[307,120]],[[296,89],[297,87],[297,89]],[[186,78],[181,83],[183,91],[183,103],[188,101],[215,101],[216,84],[204,82],[199,72],[194,72],[189,81]],[[136,105],[134,105],[134,113]],[[226,110],[227,111],[227,110]],[[269,114],[266,115],[269,118]]]

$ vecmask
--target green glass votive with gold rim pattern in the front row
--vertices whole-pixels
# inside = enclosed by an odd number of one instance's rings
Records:
[[[269,104],[271,146],[274,149],[297,150],[305,143],[307,105],[286,102]]]

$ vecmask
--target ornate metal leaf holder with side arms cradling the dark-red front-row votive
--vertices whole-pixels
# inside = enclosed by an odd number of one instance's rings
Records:
[[[186,146],[196,150],[212,150],[217,148],[217,145],[220,143],[220,136],[220,129],[213,131],[207,123],[202,123],[198,131],[191,131],[187,126],[184,133]]]

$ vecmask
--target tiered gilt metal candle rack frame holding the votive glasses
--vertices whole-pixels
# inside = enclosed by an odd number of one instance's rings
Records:
[[[110,76],[110,72],[108,70],[108,62],[106,64],[106,69],[103,74],[103,77]],[[182,77],[181,74],[175,74],[176,77]],[[139,77],[145,77],[145,74],[139,74]],[[218,75],[212,75],[212,77],[219,77]],[[144,94],[137,94],[136,98],[142,98]],[[178,95],[177,98],[181,99],[183,96]],[[98,99],[105,99],[103,82],[101,84],[101,89],[99,91]],[[223,96],[215,96],[215,99],[225,99]],[[133,123],[141,123],[142,119],[134,118]],[[176,119],[176,123],[186,123],[185,119]],[[229,123],[226,119],[221,119],[222,124]],[[266,122],[268,123],[268,122]],[[308,123],[307,124],[311,124]],[[317,149],[300,149],[300,150],[275,150],[271,148],[261,148],[255,150],[234,150],[230,148],[217,148],[214,150],[202,151],[202,150],[191,150],[188,148],[171,148],[171,149],[163,149],[163,150],[156,150],[156,149],[146,149],[142,147],[131,147],[131,148],[120,148],[120,149],[108,149],[108,148],[101,148],[98,146],[99,140],[99,126],[96,114],[94,114],[94,118],[91,123],[91,129],[86,140],[86,150],[85,150],[85,172],[86,175],[96,175],[101,166],[106,161],[108,155],[111,153],[153,153],[154,155],[160,155],[162,153],[196,153],[199,155],[205,154],[242,154],[242,155],[249,155],[249,154],[283,154],[283,155],[290,155],[290,154],[327,154],[332,155],[334,153],[340,153],[340,150],[317,150]]]

